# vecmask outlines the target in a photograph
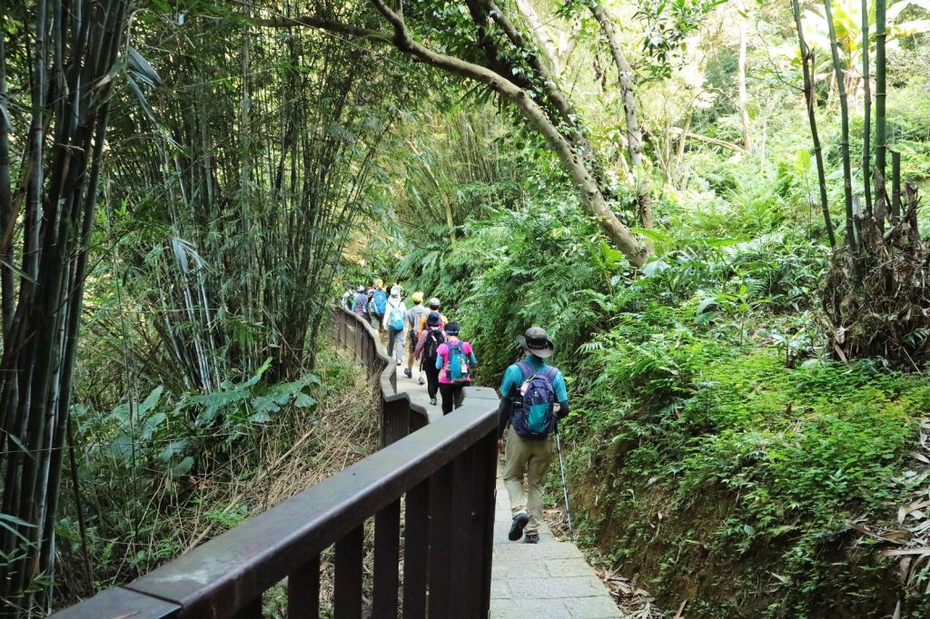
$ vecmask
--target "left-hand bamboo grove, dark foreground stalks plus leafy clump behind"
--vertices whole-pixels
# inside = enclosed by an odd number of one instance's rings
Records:
[[[299,375],[343,246],[377,208],[375,154],[416,83],[328,34],[256,30],[221,8],[186,28],[183,13],[128,2],[16,11],[0,37],[0,599],[11,616],[46,610],[55,582],[88,253],[144,304],[140,320],[90,325],[121,351],[107,389],[122,391],[130,427],[142,373],[206,393],[264,368]]]

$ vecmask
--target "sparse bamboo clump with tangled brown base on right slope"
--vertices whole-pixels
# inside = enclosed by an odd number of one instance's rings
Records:
[[[816,60],[804,38],[799,0],[792,0],[791,10],[801,49],[804,99],[817,160],[820,206],[833,245],[836,242],[827,204],[827,178],[815,112],[817,94],[813,73]],[[902,189],[900,153],[891,151],[887,141],[887,3],[886,0],[861,2],[861,98],[848,90],[848,74],[855,67],[844,58],[830,0],[824,0],[823,10],[830,43],[831,85],[835,87],[840,106],[839,151],[844,183],[844,244],[834,255],[823,298],[824,309],[835,328],[833,347],[837,356],[844,360],[878,354],[916,366],[926,353],[921,351],[923,345],[915,342],[910,334],[927,326],[925,312],[919,309],[928,294],[927,248],[918,227],[916,187],[909,181]],[[871,18],[875,20],[874,152],[871,140]],[[857,188],[850,138],[850,103],[859,99],[863,106],[864,130],[862,165],[858,171],[861,185]],[[889,151],[892,153],[890,177]]]

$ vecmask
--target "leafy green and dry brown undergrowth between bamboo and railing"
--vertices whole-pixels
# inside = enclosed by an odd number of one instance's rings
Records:
[[[65,559],[58,599],[131,581],[371,454],[373,393],[354,362],[321,349],[315,373],[290,383],[267,385],[259,370],[208,394],[159,387],[131,411],[77,407],[86,555],[69,478],[56,527]],[[323,566],[325,608],[326,557]],[[266,596],[269,616],[284,616],[282,591]]]

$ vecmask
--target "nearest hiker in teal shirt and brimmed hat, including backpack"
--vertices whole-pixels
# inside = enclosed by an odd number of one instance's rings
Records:
[[[555,347],[544,330],[530,327],[517,344],[525,356],[507,368],[500,384],[498,447],[510,425],[503,476],[513,514],[508,537],[536,544],[543,484],[555,451],[557,422],[568,415],[568,392],[562,373],[545,362]]]

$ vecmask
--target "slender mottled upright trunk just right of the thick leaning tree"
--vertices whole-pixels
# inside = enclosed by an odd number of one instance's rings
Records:
[[[614,22],[602,5],[592,2],[591,14],[597,20],[604,33],[604,38],[610,46],[614,64],[617,66],[620,97],[623,99],[623,112],[627,124],[627,151],[630,154],[630,165],[636,180],[636,204],[640,223],[646,229],[655,227],[652,215],[652,197],[649,194],[649,174],[643,165],[643,132],[640,129],[639,119],[636,115],[636,91],[633,86],[633,70],[630,62],[623,55],[620,39]]]

